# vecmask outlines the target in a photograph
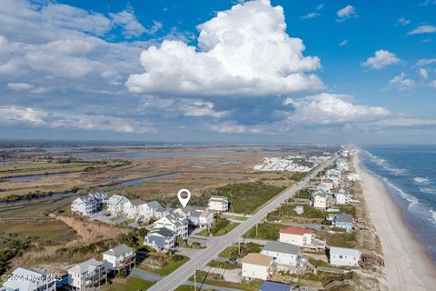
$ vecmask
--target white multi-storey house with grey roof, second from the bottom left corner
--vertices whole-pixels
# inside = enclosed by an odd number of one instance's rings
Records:
[[[68,269],[68,285],[71,290],[94,290],[106,282],[107,269],[104,262],[94,258]]]

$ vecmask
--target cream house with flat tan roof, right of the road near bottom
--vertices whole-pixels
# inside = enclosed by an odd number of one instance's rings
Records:
[[[243,257],[243,279],[266,280],[270,276],[272,256],[250,253]]]

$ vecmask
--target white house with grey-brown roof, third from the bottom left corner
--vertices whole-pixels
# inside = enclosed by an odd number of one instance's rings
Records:
[[[136,253],[124,244],[108,249],[103,253],[105,266],[117,274],[121,270],[130,271],[136,264]]]

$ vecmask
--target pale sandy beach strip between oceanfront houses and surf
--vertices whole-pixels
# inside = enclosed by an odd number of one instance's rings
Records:
[[[362,169],[359,153],[354,156],[353,164],[362,178],[370,219],[381,239],[386,285],[391,290],[435,290],[436,267],[424,246],[404,224],[401,208],[394,203],[384,184]]]

